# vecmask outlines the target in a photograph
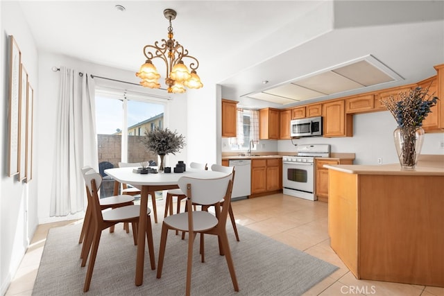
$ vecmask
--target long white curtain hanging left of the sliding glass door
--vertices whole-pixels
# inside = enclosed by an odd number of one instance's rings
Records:
[[[67,216],[86,208],[83,166],[98,169],[94,80],[60,67],[56,150],[50,216]]]

